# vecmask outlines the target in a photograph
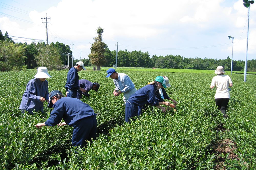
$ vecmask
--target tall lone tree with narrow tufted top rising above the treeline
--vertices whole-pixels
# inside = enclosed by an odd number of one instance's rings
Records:
[[[88,55],[90,62],[96,65],[97,70],[100,70],[100,67],[106,63],[105,51],[108,46],[102,42],[103,31],[102,27],[97,28],[98,37],[94,38],[95,42],[92,44],[91,53]]]

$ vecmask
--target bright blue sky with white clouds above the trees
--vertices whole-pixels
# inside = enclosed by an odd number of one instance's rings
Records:
[[[69,45],[75,59],[88,58],[96,29],[108,48],[181,55],[186,58],[245,60],[248,8],[242,0],[46,0],[0,1],[0,30],[15,42]],[[20,38],[17,38],[20,37]],[[256,3],[250,7],[247,59],[256,59]],[[25,39],[30,38],[30,39]]]

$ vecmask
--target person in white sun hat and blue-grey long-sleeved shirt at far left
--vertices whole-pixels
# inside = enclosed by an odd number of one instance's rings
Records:
[[[50,78],[46,67],[38,67],[37,73],[31,79],[26,87],[24,94],[22,95],[22,101],[19,109],[22,113],[28,111],[30,114],[35,112],[44,112],[43,103],[47,101],[49,103],[48,81],[46,78]]]

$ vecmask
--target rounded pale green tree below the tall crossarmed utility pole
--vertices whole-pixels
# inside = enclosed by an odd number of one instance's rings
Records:
[[[59,51],[52,45],[42,45],[35,56],[39,67],[47,67],[48,70],[57,70],[62,66]]]

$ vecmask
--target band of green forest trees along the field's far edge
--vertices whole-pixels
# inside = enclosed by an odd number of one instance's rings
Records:
[[[101,33],[103,29],[99,29],[99,39],[94,38],[95,42],[101,42],[103,54],[101,55],[102,67],[113,67],[116,63],[116,51],[110,51],[107,44],[102,42]],[[93,44],[92,48],[93,49]],[[93,56],[93,55],[91,55]],[[82,59],[85,66],[94,66],[93,58]],[[75,64],[78,60],[73,60]],[[92,62],[93,61],[93,62]],[[103,61],[103,62],[102,62]],[[63,65],[72,67],[72,51],[69,45],[60,42],[46,45],[45,42],[39,43],[15,43],[12,38],[5,35],[0,30],[0,70],[16,71],[23,69],[33,69],[39,66],[45,66],[49,70],[58,70]],[[200,69],[215,70],[217,66],[223,66],[226,71],[231,70],[231,59],[208,59],[208,58],[185,58],[180,55],[166,55],[150,57],[148,52],[127,51],[126,49],[118,51],[117,59],[118,67],[146,67],[146,68],[176,68],[176,69]],[[233,71],[244,71],[244,61],[233,60]],[[256,72],[256,60],[247,61],[247,71]]]

